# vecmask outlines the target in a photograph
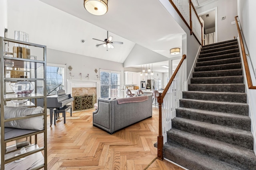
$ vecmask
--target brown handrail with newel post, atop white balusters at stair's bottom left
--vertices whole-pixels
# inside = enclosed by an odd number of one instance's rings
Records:
[[[164,88],[164,91],[162,93],[159,93],[159,96],[157,97],[158,107],[159,107],[159,119],[158,119],[158,137],[157,137],[157,158],[160,160],[163,160],[163,146],[164,146],[164,138],[162,135],[162,103],[164,101],[164,96],[166,95],[168,89],[170,88],[176,74],[178,73],[178,70],[180,69],[181,64],[186,59],[186,55],[182,55],[182,59],[180,60],[180,63],[178,64],[176,70],[172,74],[171,79],[167,83],[166,87]]]

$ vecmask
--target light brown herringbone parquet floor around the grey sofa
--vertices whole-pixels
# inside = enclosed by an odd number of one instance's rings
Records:
[[[72,117],[67,113],[66,124],[61,118],[52,127],[47,117],[49,170],[182,170],[166,160],[154,160],[157,108],[153,107],[151,118],[112,135],[92,125],[92,111],[72,113]]]

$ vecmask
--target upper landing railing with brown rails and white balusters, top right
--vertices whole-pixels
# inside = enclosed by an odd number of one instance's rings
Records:
[[[199,19],[191,0],[169,0],[180,18],[190,29],[190,35],[194,35],[200,45],[203,44],[203,24]]]

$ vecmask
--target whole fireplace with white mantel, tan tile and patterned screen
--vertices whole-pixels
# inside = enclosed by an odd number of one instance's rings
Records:
[[[94,108],[100,97],[99,80],[67,80],[67,92],[74,98],[73,110],[81,111]]]

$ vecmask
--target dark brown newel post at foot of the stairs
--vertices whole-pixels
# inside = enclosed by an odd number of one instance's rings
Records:
[[[162,93],[159,93],[157,98],[158,106],[159,106],[159,120],[158,120],[158,137],[157,137],[157,158],[163,160],[163,145],[164,145],[164,138],[162,135]]]

